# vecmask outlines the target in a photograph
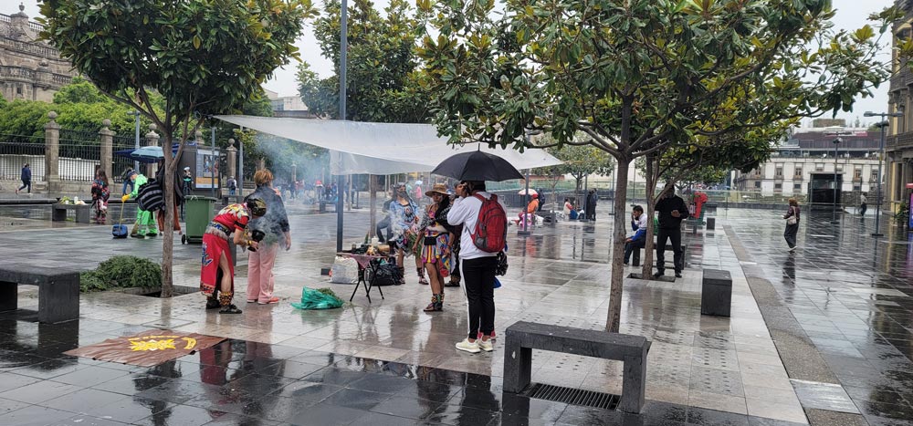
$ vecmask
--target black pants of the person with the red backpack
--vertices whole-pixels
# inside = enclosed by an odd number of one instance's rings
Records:
[[[495,256],[460,259],[463,266],[463,291],[469,312],[469,338],[481,331],[491,336],[495,330]]]

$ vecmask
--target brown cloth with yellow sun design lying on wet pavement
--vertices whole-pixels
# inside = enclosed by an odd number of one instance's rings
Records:
[[[148,330],[123,338],[109,338],[64,352],[76,357],[152,367],[209,348],[225,338],[171,330]]]

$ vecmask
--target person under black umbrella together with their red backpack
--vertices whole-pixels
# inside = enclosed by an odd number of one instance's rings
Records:
[[[497,195],[485,191],[485,182],[460,182],[456,196],[447,213],[447,223],[463,225],[459,258],[469,315],[468,337],[456,343],[456,349],[490,352],[494,350],[491,337],[495,331],[495,271],[498,253],[505,247],[507,214],[498,204]],[[486,234],[481,234],[482,229],[487,230]]]

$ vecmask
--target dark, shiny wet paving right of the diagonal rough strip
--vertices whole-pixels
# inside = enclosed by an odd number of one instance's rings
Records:
[[[841,385],[871,424],[913,419],[913,234],[887,226],[876,240],[872,219],[844,214],[832,224],[831,213],[810,213],[790,255],[779,227],[758,226],[764,216],[744,212],[727,223],[746,247],[745,274],[769,283],[799,326],[784,340],[808,344],[814,353],[805,358],[820,354],[826,368],[798,363],[791,377]]]

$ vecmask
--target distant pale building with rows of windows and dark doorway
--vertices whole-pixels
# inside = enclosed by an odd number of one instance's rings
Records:
[[[834,140],[836,161],[834,161]],[[733,186],[762,195],[809,193],[812,174],[840,176],[843,203],[855,203],[859,194],[873,199],[878,185],[878,131],[847,128],[803,129],[795,132],[767,161],[748,173],[735,174]],[[873,200],[874,201],[874,200]]]

